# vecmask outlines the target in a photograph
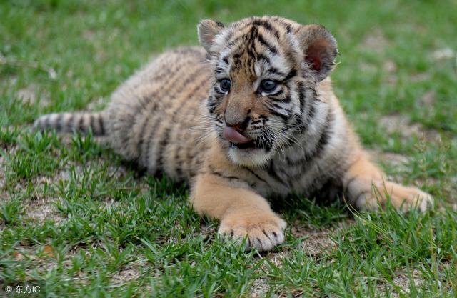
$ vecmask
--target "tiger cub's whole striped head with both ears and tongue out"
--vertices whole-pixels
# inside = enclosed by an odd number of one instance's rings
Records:
[[[198,31],[214,69],[206,104],[231,161],[259,167],[303,141],[303,107],[318,100],[316,85],[333,69],[333,36],[276,16],[230,26],[204,20]]]

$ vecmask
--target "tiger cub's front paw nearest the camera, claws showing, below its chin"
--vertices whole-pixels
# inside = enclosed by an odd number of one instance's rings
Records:
[[[247,237],[246,249],[269,250],[284,241],[286,222],[273,212],[234,212],[221,221],[219,234]]]

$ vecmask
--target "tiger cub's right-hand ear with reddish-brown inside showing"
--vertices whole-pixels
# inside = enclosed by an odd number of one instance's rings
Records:
[[[321,25],[306,25],[300,29],[301,48],[305,61],[314,72],[317,81],[328,76],[335,66],[338,49],[336,39]]]

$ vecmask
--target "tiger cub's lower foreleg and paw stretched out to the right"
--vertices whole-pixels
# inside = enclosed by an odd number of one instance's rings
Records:
[[[343,186],[349,203],[361,210],[376,210],[379,205],[384,206],[387,199],[403,212],[411,207],[423,212],[433,206],[430,194],[387,181],[386,175],[368,160],[365,153],[361,153],[348,169]]]

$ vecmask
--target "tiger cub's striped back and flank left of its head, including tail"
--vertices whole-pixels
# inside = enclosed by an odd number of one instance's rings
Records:
[[[117,153],[149,173],[187,180],[198,172],[207,147],[204,102],[211,79],[203,49],[166,51],[119,86],[105,111],[48,114],[34,126],[64,132],[90,129],[109,136]]]

